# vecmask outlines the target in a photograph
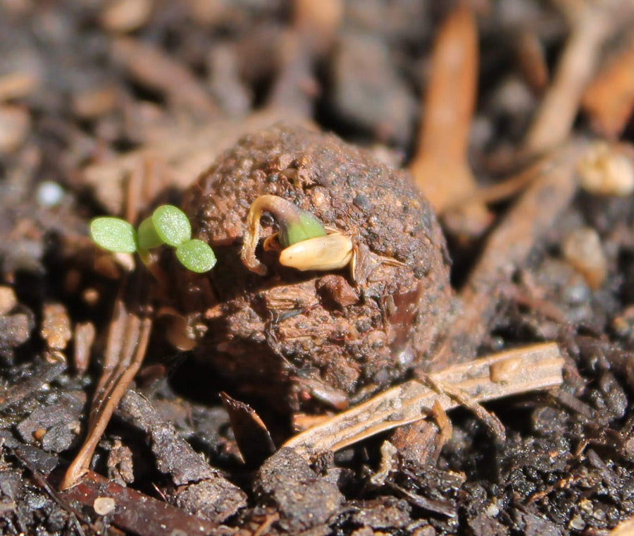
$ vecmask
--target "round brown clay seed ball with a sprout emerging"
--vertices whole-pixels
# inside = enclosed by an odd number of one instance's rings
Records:
[[[351,238],[354,277],[299,272],[261,246],[267,274],[249,272],[242,236],[265,194]],[[178,273],[181,306],[204,325],[198,354],[244,392],[293,410],[342,408],[359,389],[402,377],[442,330],[452,290],[433,209],[407,173],[334,135],[294,126],[248,135],[187,190],[182,209],[218,264],[204,276]],[[262,224],[261,238],[278,230],[266,214]]]

